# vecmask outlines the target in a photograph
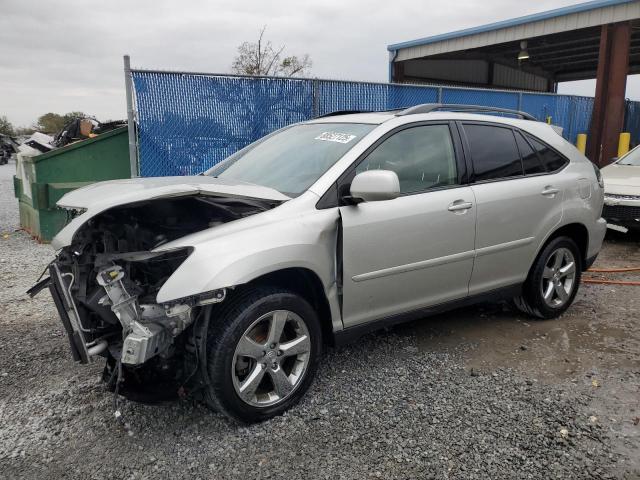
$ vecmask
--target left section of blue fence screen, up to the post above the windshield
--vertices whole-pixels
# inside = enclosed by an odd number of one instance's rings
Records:
[[[312,117],[304,80],[133,72],[140,175],[195,175],[264,135]]]

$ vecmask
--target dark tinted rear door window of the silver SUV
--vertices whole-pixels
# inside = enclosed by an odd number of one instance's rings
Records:
[[[476,181],[520,177],[520,152],[510,128],[464,125]]]

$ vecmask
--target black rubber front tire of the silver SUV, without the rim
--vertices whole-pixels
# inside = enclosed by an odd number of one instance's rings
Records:
[[[240,398],[234,386],[236,347],[256,320],[273,311],[289,311],[301,319],[309,337],[308,362],[294,390],[272,405],[256,406]],[[207,332],[209,385],[205,402],[214,411],[242,422],[254,423],[281,415],[308,390],[318,367],[321,329],[314,309],[299,295],[281,288],[252,287],[233,294],[211,310]]]

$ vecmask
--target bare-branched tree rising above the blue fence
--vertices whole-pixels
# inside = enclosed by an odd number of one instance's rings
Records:
[[[231,64],[233,73],[239,75],[266,75],[271,77],[304,77],[311,69],[311,58],[304,54],[284,56],[285,47],[277,50],[264,40],[266,26],[262,27],[257,42],[243,42],[238,47],[238,55]]]

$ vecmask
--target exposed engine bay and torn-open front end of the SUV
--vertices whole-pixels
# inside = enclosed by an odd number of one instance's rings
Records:
[[[107,358],[107,370],[145,377],[184,376],[185,335],[204,305],[224,300],[216,290],[156,303],[166,280],[191,248],[154,249],[172,240],[266,211],[281,202],[211,195],[169,197],[118,206],[91,218],[59,251],[49,287],[76,361]],[[151,373],[153,372],[153,373]],[[113,375],[111,375],[113,377]]]

